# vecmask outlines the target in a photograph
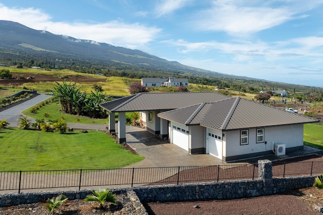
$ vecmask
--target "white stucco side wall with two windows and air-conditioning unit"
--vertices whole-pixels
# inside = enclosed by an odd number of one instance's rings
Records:
[[[286,144],[286,148],[303,146],[303,124],[264,127],[264,142],[256,143],[256,128],[249,130],[249,144],[240,145],[240,130],[226,131],[223,138],[223,156],[237,156],[272,151],[272,142]]]

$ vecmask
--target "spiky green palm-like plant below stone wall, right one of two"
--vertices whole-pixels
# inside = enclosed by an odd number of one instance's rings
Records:
[[[96,201],[100,204],[100,208],[103,208],[104,202],[117,204],[116,194],[113,194],[109,189],[99,188],[92,190],[92,193],[87,195],[84,201]]]

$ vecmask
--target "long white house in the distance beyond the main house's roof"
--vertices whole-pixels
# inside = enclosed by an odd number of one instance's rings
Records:
[[[142,78],[141,85],[145,87],[188,87],[188,79],[169,78]]]

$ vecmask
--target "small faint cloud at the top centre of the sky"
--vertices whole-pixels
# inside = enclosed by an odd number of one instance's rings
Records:
[[[163,0],[156,5],[155,11],[157,17],[173,13],[174,11],[186,6],[191,0]]]

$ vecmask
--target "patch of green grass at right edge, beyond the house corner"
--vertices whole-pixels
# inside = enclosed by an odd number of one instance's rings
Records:
[[[304,145],[323,150],[323,124],[304,124]]]

